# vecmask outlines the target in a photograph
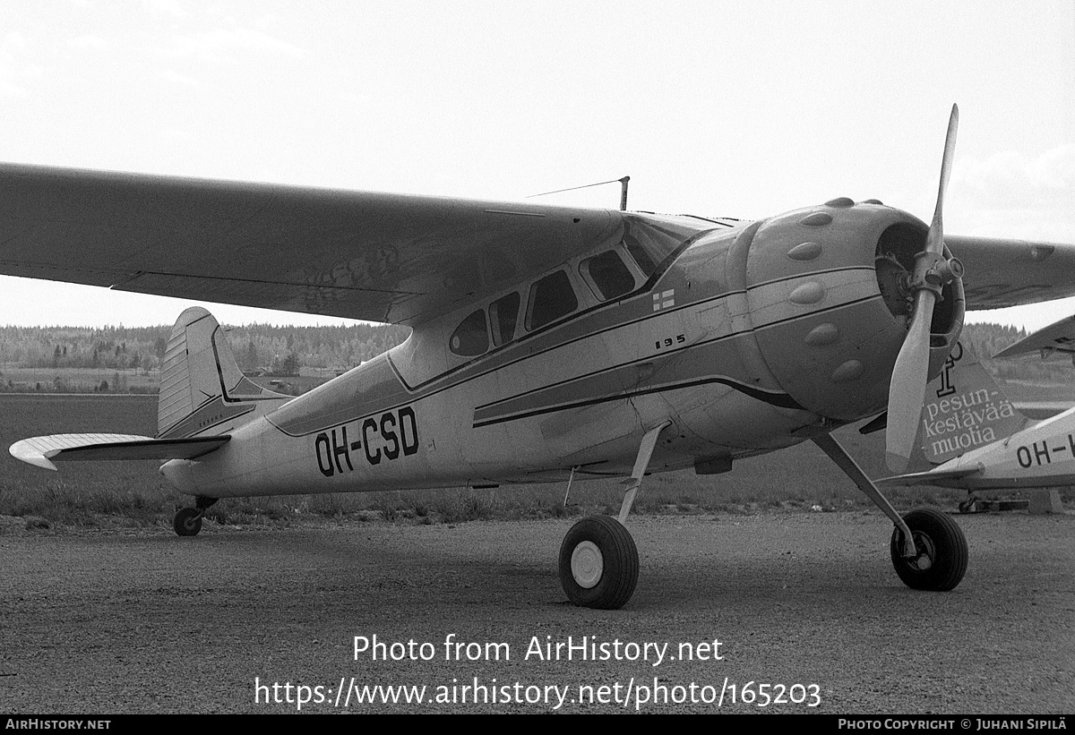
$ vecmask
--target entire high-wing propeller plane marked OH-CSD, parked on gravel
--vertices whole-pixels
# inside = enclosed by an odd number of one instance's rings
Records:
[[[38,437],[12,453],[168,460],[195,498],[181,535],[229,496],[624,477],[619,518],[580,520],[559,556],[571,601],[617,608],[637,580],[624,523],[647,473],[727,472],[812,439],[892,519],[900,578],[952,589],[959,527],[901,517],[830,432],[887,406],[902,472],[964,308],[1075,293],[1075,247],[944,236],[957,118],[929,226],[846,198],[743,222],[2,165],[2,273],[413,330],[289,399],[244,379],[190,308],[157,437]]]

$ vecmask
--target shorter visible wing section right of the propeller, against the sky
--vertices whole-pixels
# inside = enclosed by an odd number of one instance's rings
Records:
[[[1003,308],[1075,296],[1075,246],[945,235],[963,261],[966,308]]]

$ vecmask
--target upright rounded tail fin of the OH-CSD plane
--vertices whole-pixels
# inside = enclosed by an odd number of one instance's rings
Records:
[[[160,370],[157,436],[214,436],[290,400],[247,379],[213,315],[191,306],[180,315]]]

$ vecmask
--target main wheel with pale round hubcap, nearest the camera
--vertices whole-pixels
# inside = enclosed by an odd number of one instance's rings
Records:
[[[560,545],[560,583],[571,602],[614,610],[637,581],[639,549],[618,520],[589,516],[571,527]]]

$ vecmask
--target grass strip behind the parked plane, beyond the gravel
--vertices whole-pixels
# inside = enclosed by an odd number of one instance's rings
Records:
[[[28,436],[64,432],[119,432],[153,436],[156,395],[0,394],[0,445]],[[841,442],[872,477],[883,464],[884,432],[861,436],[854,428]],[[77,527],[170,527],[175,508],[189,499],[157,472],[157,462],[71,462],[59,472],[0,456],[0,516],[31,523]],[[386,491],[361,494],[230,499],[215,505],[210,522],[297,523],[325,518],[386,519],[397,522],[458,522],[488,518],[541,518],[617,513],[622,491],[615,480],[576,482],[564,508],[564,485],[502,486],[489,490]],[[929,504],[954,508],[965,498],[957,490],[890,489],[899,508]],[[1071,493],[1065,498],[1072,500]],[[873,504],[813,444],[751,458],[731,473],[697,476],[677,472],[648,477],[636,513],[825,511]]]

